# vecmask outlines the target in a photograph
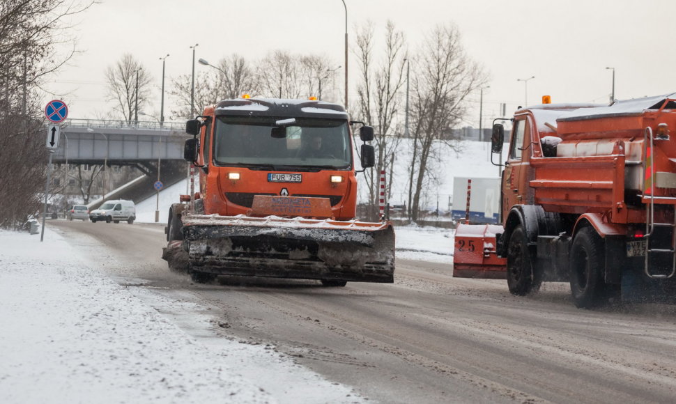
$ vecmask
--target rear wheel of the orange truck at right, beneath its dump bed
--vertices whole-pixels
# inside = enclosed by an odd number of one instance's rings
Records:
[[[570,291],[576,307],[590,309],[602,303],[605,267],[603,240],[593,228],[581,229],[570,249]]]

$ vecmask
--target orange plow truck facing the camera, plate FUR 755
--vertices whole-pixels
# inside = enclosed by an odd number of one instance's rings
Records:
[[[199,192],[171,205],[162,258],[196,282],[217,275],[391,283],[392,224],[355,220],[351,127],[338,104],[242,98],[187,121]],[[362,124],[363,142],[374,138]],[[361,145],[362,171],[374,147]],[[187,203],[186,203],[187,202]]]

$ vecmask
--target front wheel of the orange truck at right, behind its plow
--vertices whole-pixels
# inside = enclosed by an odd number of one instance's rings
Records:
[[[528,239],[523,226],[514,228],[507,245],[507,286],[516,296],[530,295],[539,290],[541,277],[535,274],[528,251]]]

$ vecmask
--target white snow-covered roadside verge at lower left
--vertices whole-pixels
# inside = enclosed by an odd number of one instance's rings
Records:
[[[0,246],[0,403],[362,402],[262,346],[197,341],[49,229]]]

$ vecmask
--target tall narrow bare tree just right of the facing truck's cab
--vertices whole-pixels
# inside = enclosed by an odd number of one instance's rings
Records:
[[[377,217],[378,178],[381,171],[390,172],[387,182],[387,197],[392,193],[391,178],[394,156],[401,141],[401,88],[406,84],[404,61],[406,60],[406,38],[397,31],[392,22],[385,26],[385,52],[381,63],[374,66],[372,54],[374,47],[374,26],[371,23],[362,27],[357,34],[357,59],[360,65],[360,84],[357,88],[358,113],[362,121],[374,126],[376,132],[376,167],[366,171],[364,178],[367,187],[369,209],[367,219]]]

